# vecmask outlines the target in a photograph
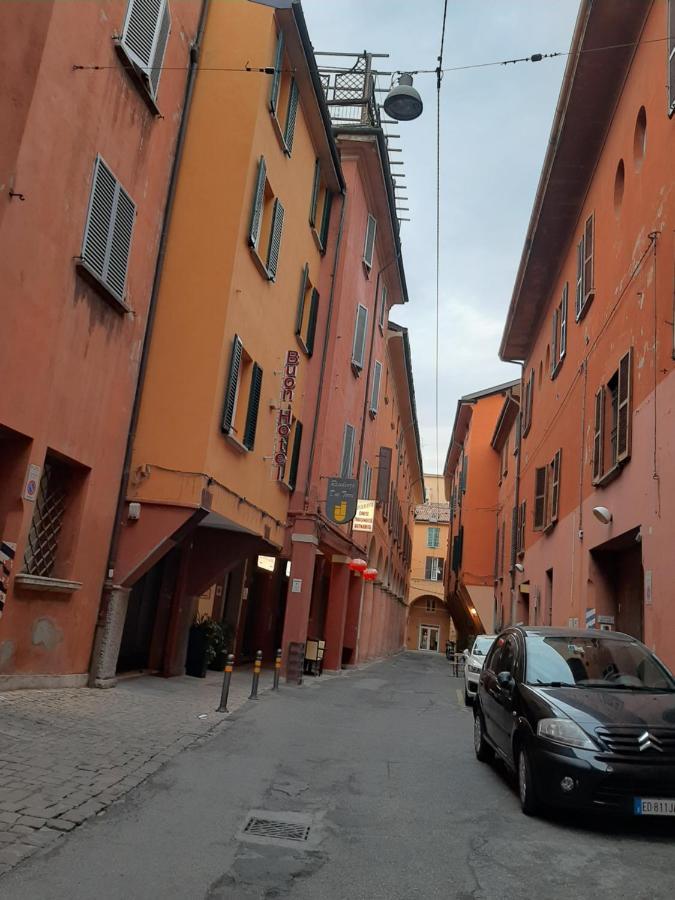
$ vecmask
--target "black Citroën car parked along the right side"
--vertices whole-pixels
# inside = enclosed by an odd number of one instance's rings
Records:
[[[543,805],[675,816],[675,680],[626,634],[514,627],[494,642],[474,701],[474,748]]]

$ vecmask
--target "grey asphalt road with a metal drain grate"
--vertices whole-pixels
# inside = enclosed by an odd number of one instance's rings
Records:
[[[504,774],[474,759],[459,688],[443,658],[409,653],[268,694],[235,713],[209,743],[174,758],[1,879],[0,897],[675,894],[675,825],[526,818]],[[280,824],[245,837],[253,811]]]

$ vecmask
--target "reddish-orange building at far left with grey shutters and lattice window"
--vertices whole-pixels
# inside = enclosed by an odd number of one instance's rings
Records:
[[[0,8],[3,688],[88,677],[201,10],[141,5]]]

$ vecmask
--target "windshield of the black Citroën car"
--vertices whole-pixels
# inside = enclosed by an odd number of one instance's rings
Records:
[[[531,634],[526,647],[528,684],[675,691],[665,666],[628,638]]]

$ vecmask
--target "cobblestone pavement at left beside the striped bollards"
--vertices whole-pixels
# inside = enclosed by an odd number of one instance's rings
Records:
[[[271,682],[263,671],[260,691]],[[219,731],[221,686],[222,674],[209,672],[0,694],[0,876]],[[235,672],[230,712],[250,689],[250,671]]]

